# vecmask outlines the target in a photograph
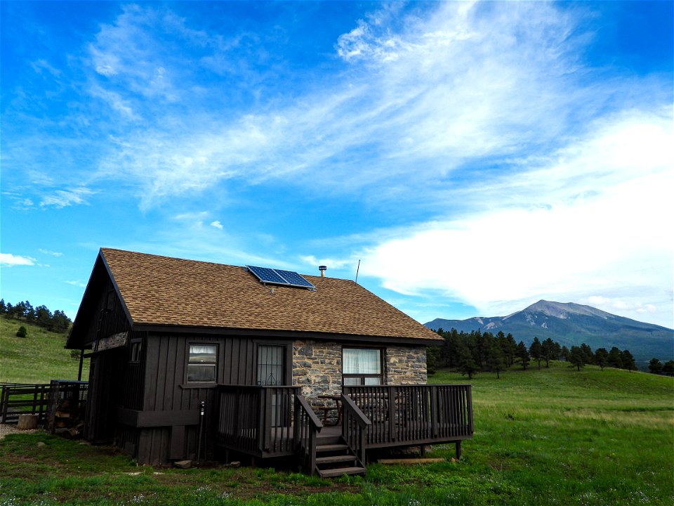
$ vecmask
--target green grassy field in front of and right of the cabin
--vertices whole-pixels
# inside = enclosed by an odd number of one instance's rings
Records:
[[[468,382],[438,372],[435,383]],[[431,465],[334,481],[251,467],[136,467],[44,433],[0,442],[3,505],[673,505],[674,379],[565,363],[471,381],[475,438]],[[39,442],[46,443],[37,446]]]

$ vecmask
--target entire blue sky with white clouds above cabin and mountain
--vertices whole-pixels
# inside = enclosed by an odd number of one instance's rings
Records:
[[[99,247],[674,327],[672,2],[12,2],[1,297]]]

